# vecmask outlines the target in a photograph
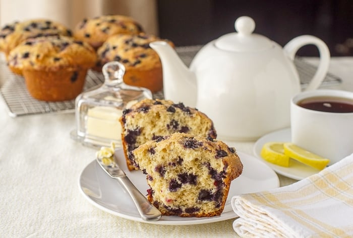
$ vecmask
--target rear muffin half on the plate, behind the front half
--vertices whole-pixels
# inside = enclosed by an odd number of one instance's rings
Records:
[[[129,170],[135,167],[129,160],[129,151],[139,145],[174,132],[216,138],[213,122],[197,109],[168,100],[144,99],[123,111],[122,144]]]

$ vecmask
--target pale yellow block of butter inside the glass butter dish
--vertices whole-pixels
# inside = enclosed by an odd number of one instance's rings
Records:
[[[123,111],[113,107],[94,107],[87,112],[87,134],[121,140],[122,126],[119,118]]]

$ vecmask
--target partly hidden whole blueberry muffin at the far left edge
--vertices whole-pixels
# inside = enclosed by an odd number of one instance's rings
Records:
[[[64,25],[48,19],[14,22],[5,25],[0,31],[0,50],[8,55],[26,39],[53,35],[72,36],[72,32]]]

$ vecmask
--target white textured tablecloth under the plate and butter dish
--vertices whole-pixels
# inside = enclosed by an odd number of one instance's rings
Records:
[[[309,59],[316,63],[317,59]],[[332,58],[330,72],[353,91],[353,57]],[[78,178],[96,149],[70,138],[73,113],[11,118],[0,99],[0,237],[235,237],[234,219],[201,225],[127,220],[90,204]],[[254,142],[232,142],[253,154]],[[295,180],[279,176],[281,186]]]

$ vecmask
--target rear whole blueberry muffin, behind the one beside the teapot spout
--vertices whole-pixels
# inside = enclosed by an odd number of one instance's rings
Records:
[[[97,49],[109,36],[116,34],[139,34],[143,29],[134,19],[120,15],[99,16],[83,19],[77,24],[74,36]]]

